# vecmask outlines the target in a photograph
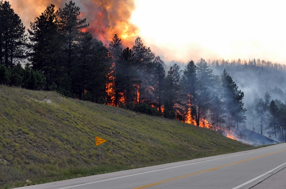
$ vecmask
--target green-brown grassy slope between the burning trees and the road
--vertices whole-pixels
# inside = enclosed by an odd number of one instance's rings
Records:
[[[101,169],[95,136],[107,140]],[[0,86],[0,188],[223,154],[231,146],[252,148],[176,120]]]

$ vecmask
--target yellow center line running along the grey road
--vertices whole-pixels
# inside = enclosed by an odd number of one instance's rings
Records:
[[[283,151],[286,151],[286,149],[285,150],[280,150],[280,151],[277,151],[277,152],[272,152],[272,153],[269,153],[269,154],[264,154],[264,155],[253,157],[253,158],[249,158],[249,159],[245,159],[245,160],[242,160],[242,161],[237,161],[237,162],[234,162],[234,163],[229,163],[229,164],[226,164],[226,165],[214,167],[212,169],[191,173],[191,174],[188,174],[188,175],[183,175],[183,176],[180,176],[180,177],[171,178],[171,179],[168,179],[168,180],[163,180],[163,181],[160,181],[160,182],[155,182],[155,183],[144,185],[144,186],[140,186],[140,187],[135,187],[133,189],[141,189],[141,188],[147,188],[147,187],[155,186],[155,185],[162,184],[162,183],[165,183],[165,182],[169,182],[169,181],[172,181],[172,180],[185,178],[185,177],[189,177],[189,176],[192,176],[192,175],[198,175],[200,173],[205,173],[205,172],[209,172],[209,171],[218,170],[218,169],[221,169],[222,167],[226,167],[226,166],[234,165],[234,164],[238,164],[238,163],[243,163],[243,162],[246,162],[246,161],[250,161],[250,160],[253,160],[253,159],[261,158],[261,157],[264,157],[264,156],[269,156],[269,155],[276,154],[276,153],[283,152]]]

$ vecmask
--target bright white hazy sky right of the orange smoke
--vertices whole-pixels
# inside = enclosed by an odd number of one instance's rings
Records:
[[[132,22],[165,60],[260,58],[286,64],[283,1],[135,0]]]

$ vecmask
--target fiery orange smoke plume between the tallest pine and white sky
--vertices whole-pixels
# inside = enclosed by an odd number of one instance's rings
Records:
[[[103,44],[109,44],[114,34],[122,38],[123,46],[132,46],[138,34],[138,29],[129,22],[135,9],[133,0],[84,0],[82,4],[90,27],[86,30]]]

